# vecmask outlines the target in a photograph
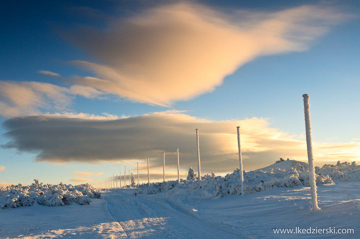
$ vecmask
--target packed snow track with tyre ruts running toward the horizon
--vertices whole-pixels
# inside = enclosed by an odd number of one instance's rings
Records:
[[[110,215],[129,239],[238,238],[198,217],[180,200],[134,196],[132,190],[103,193]]]

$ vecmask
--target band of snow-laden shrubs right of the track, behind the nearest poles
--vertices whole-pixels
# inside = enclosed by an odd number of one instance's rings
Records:
[[[273,166],[273,167],[271,167]],[[266,171],[264,170],[266,169]],[[262,170],[246,172],[244,170],[244,193],[254,193],[271,190],[273,188],[293,188],[296,186],[310,187],[309,165],[304,162],[287,160],[270,165]],[[332,184],[332,178],[347,180],[348,178],[360,179],[360,166],[355,162],[340,163],[315,167],[316,184]],[[241,194],[241,181],[239,169],[223,176],[215,174],[204,175],[201,181],[196,180],[195,170],[190,167],[186,180],[167,181],[162,183],[140,184],[134,194],[154,194],[168,190],[170,194],[186,194],[191,189],[203,189],[202,198],[221,198],[229,194]]]

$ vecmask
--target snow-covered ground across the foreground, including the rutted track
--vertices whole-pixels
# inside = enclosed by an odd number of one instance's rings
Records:
[[[1,210],[0,238],[360,238],[360,180],[333,181],[317,184],[321,211],[315,213],[305,185],[221,198],[210,197],[206,187],[136,196],[134,189],[102,191],[103,197],[91,199],[90,205]],[[331,227],[334,233],[294,234],[296,227]],[[293,229],[293,234],[275,234],[274,229]],[[339,234],[338,229],[354,233]]]

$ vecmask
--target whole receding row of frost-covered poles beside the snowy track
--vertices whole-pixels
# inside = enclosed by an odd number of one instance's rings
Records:
[[[311,201],[312,201],[312,210],[320,211],[317,201],[317,193],[316,193],[316,181],[315,181],[315,166],[314,166],[314,158],[312,156],[312,139],[311,139],[311,123],[310,123],[310,104],[309,98],[310,96],[307,94],[302,95],[304,101],[304,115],[305,115],[305,130],[306,130],[306,146],[307,146],[307,157],[309,161],[309,178],[310,178],[310,189],[311,189]],[[201,167],[200,167],[200,148],[199,148],[199,130],[196,130],[196,143],[197,143],[197,156],[198,156],[198,180],[201,180]],[[241,196],[244,196],[244,175],[243,175],[243,162],[241,156],[241,146],[240,146],[240,127],[237,127],[238,134],[238,151],[239,151],[239,173],[240,173],[240,186],[241,186]],[[164,153],[164,163],[163,163],[163,181],[165,182],[165,152]],[[179,173],[179,148],[176,149],[177,153],[177,182],[180,183],[180,173]],[[150,185],[150,173],[149,173],[149,158],[148,159],[148,185]],[[139,185],[139,163],[138,165],[138,185]],[[121,179],[121,172],[120,172]],[[111,188],[111,177],[108,182],[105,182],[105,189]],[[115,188],[115,180],[113,175],[113,188]],[[101,183],[102,184],[102,183]],[[131,188],[130,181],[130,170],[129,170],[129,185]],[[94,186],[94,184],[93,184]],[[98,188],[100,186],[100,182]],[[126,166],[124,172],[124,188],[126,188]],[[101,185],[101,188],[102,185]],[[116,175],[116,188],[117,188],[117,175]],[[121,180],[120,180],[120,188],[121,188]]]

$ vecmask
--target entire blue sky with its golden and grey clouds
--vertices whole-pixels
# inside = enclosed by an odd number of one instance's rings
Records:
[[[358,1],[36,1],[0,10],[0,186],[140,183],[360,157]],[[129,171],[127,171],[127,174]],[[120,177],[119,177],[120,179]]]

